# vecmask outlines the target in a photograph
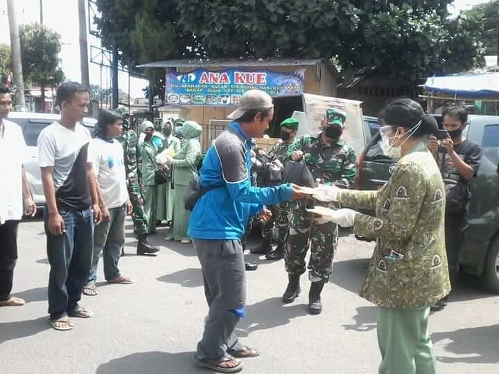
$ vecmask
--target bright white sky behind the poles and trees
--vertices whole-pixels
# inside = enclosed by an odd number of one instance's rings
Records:
[[[480,0],[457,0],[449,7],[450,13],[455,17],[461,10],[469,9]],[[28,24],[40,21],[40,0],[15,0],[17,23]],[[58,31],[62,39],[62,51],[60,53],[61,66],[69,80],[81,80],[80,73],[80,46],[78,30],[78,0],[43,0],[44,24]],[[88,25],[87,25],[88,26]],[[7,0],[0,0],[0,43],[10,44]],[[88,36],[89,58],[91,45],[100,46],[100,40],[92,35]],[[90,83],[100,85],[100,67],[89,63]],[[109,69],[103,68],[102,86],[106,88],[105,82],[110,80]],[[142,89],[147,86],[145,80],[132,78],[130,83],[130,96],[132,98],[143,97]],[[128,91],[128,75],[119,73],[119,88]]]

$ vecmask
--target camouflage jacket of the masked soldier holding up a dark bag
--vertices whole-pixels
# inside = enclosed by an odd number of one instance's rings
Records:
[[[357,173],[356,154],[343,139],[329,145],[322,142],[322,133],[316,136],[301,136],[290,145],[286,162],[290,161],[292,153],[298,150],[304,152],[306,166],[314,179],[340,188],[353,186]]]

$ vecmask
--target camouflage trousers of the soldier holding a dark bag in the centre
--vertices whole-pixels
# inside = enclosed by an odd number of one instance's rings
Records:
[[[308,278],[329,281],[333,258],[338,246],[338,226],[305,211],[305,202],[297,202],[292,210],[288,245],[284,253],[288,274],[304,274],[305,257],[310,244]]]

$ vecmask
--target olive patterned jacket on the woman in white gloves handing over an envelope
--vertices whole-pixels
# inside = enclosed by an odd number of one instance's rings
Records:
[[[410,309],[430,306],[450,292],[444,181],[422,143],[397,163],[383,188],[345,190],[341,204],[376,209],[376,217],[358,213],[355,219],[356,235],[377,240],[360,296]]]

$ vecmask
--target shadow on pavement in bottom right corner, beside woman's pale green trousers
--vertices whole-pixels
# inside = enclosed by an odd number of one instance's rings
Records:
[[[449,332],[432,334],[433,344],[444,341],[444,349],[459,357],[439,356],[439,362],[454,364],[496,364],[499,363],[499,324],[477,328],[461,328]],[[450,342],[447,342],[450,340]]]

